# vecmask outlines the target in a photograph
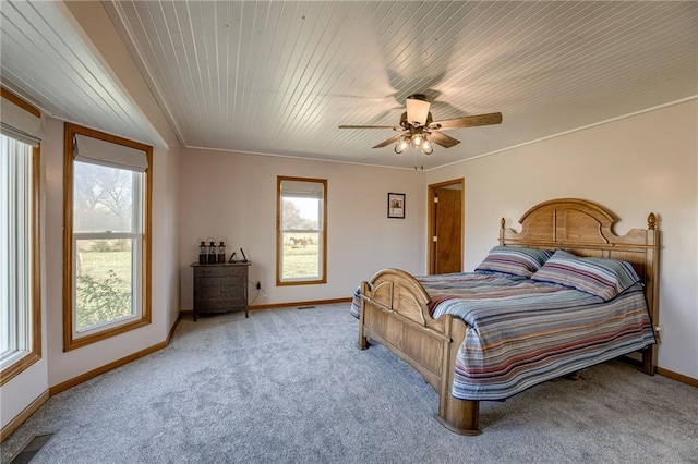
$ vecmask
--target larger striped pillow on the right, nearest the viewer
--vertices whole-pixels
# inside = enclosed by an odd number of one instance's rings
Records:
[[[531,279],[571,286],[606,302],[640,281],[627,261],[581,258],[563,249],[557,249]]]

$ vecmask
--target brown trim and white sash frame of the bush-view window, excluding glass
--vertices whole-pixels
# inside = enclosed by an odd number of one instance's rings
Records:
[[[124,169],[119,163],[103,162],[92,155],[83,156],[79,152],[76,141],[95,142],[95,146],[100,143],[105,147],[116,144],[127,148],[127,150],[142,151],[145,154],[145,162],[139,169],[142,173],[134,178],[142,178],[141,185],[134,185],[134,204],[140,203],[140,207],[134,207],[134,221],[136,222],[131,231],[99,231],[89,233],[77,233],[73,231],[73,188],[74,188],[74,163],[75,162],[93,162],[95,164],[106,164],[116,169]],[[100,142],[104,141],[104,142]],[[153,148],[116,137],[110,134],[82,127],[75,124],[65,124],[65,142],[64,142],[64,173],[63,173],[63,255],[64,255],[64,272],[63,272],[63,351],[74,350],[95,343],[110,337],[116,337],[130,330],[151,323],[151,242],[152,242],[152,179],[153,179]],[[118,147],[117,147],[118,148]],[[103,151],[104,152],[104,151]],[[141,175],[142,174],[142,175]],[[136,182],[137,183],[137,182]],[[139,194],[140,192],[140,194]],[[77,241],[80,240],[132,240],[132,307],[133,313],[119,319],[96,323],[87,328],[79,330],[77,312],[75,308],[75,284],[77,277]]]

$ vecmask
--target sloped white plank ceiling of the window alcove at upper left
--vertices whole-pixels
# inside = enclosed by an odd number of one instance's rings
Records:
[[[59,120],[165,145],[60,1],[0,1],[0,81]]]

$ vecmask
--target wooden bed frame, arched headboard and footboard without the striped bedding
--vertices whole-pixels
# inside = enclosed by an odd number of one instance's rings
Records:
[[[625,235],[613,232],[614,216],[604,208],[575,198],[553,199],[529,209],[519,220],[521,231],[505,228],[502,219],[500,245],[554,251],[563,248],[582,257],[629,261],[645,284],[652,328],[659,325],[659,240],[657,217],[650,213],[647,229]],[[479,401],[450,394],[455,359],[466,335],[466,323],[454,316],[430,316],[430,295],[408,272],[386,269],[361,284],[358,346],[366,339],[385,345],[434,388],[440,395],[436,419],[461,435],[479,435]],[[641,352],[642,370],[653,375],[657,344]]]

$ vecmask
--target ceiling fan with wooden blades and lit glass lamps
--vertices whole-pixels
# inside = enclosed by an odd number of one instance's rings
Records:
[[[474,127],[478,125],[500,124],[502,113],[478,114],[433,121],[429,111],[431,102],[423,94],[414,94],[407,97],[407,111],[400,117],[400,125],[340,125],[339,129],[392,129],[400,133],[381,142],[373,148],[382,148],[395,144],[395,152],[401,154],[410,145],[421,149],[425,155],[434,151],[432,144],[450,148],[460,143],[440,131],[456,127]]]

